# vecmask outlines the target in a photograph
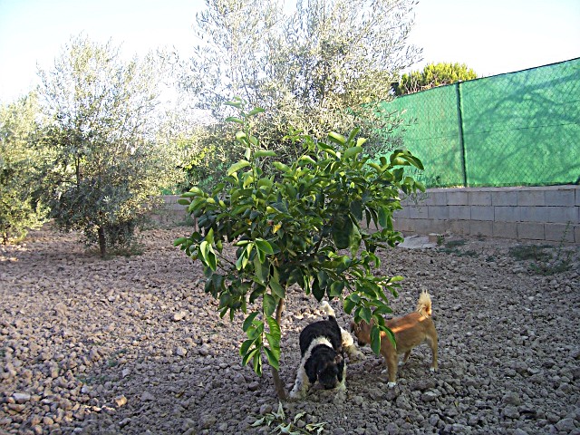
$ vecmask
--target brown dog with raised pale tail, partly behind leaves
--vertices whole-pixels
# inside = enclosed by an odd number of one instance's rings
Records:
[[[351,331],[358,339],[359,345],[371,343],[371,324],[361,321],[359,324],[351,324]],[[411,349],[420,343],[428,343],[433,354],[430,366],[431,372],[437,370],[437,331],[431,319],[431,298],[429,293],[423,291],[419,296],[417,310],[414,313],[396,317],[385,322],[395,335],[397,347],[392,345],[387,333],[381,332],[381,354],[389,371],[389,387],[395,386],[397,379],[397,365],[399,355],[405,354],[401,364],[407,362]]]

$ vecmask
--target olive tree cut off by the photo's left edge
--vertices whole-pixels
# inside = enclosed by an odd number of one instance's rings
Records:
[[[39,131],[38,101],[30,93],[0,106],[0,237],[3,243],[24,237],[42,225],[40,201],[43,153],[34,146]]]

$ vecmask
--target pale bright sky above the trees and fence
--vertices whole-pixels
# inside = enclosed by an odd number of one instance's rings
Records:
[[[288,1],[288,0],[286,0]],[[72,36],[140,56],[175,47],[187,56],[202,0],[0,0],[0,102],[37,83]],[[479,76],[580,57],[579,0],[420,0],[410,42],[427,63],[466,63]]]

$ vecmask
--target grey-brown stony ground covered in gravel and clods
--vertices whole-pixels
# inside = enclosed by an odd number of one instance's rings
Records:
[[[107,261],[50,230],[0,247],[0,433],[267,432],[251,425],[278,409],[270,372],[241,367],[243,318],[219,319],[198,264],[172,247],[189,232],[151,230],[141,256]],[[382,359],[365,348],[348,365],[345,400],[314,389],[284,403],[287,419],[305,412],[298,428],[325,422],[336,435],[580,434],[578,247],[566,247],[567,271],[545,276],[509,255],[516,241],[463,241],[382,252],[384,272],[406,278],[395,314],[430,292],[439,372],[421,346],[389,389]],[[320,318],[314,298],[289,292],[287,387],[298,333]]]

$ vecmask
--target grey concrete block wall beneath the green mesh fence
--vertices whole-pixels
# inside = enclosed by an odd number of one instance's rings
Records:
[[[580,186],[429,189],[401,205],[393,218],[402,232],[580,244]]]

